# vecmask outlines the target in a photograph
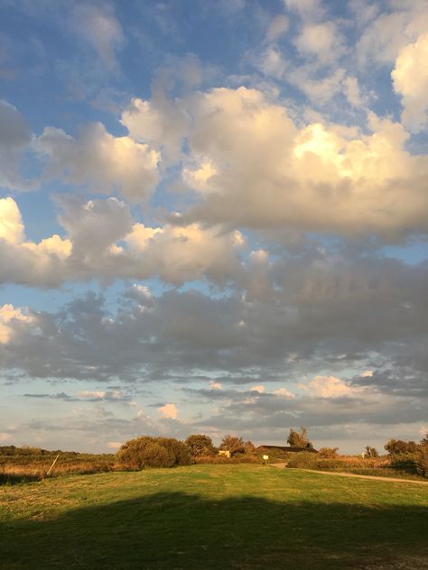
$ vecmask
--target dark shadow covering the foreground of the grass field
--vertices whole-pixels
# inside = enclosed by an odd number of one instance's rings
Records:
[[[0,523],[2,570],[428,568],[423,507],[162,492],[37,516]]]

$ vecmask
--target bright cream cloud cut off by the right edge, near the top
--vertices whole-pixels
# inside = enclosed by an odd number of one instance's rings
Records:
[[[428,33],[407,44],[395,60],[391,73],[395,92],[402,96],[402,121],[411,131],[423,130],[428,120]]]

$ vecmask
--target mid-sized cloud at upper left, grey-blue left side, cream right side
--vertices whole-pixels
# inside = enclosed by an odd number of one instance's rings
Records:
[[[45,157],[46,177],[101,193],[118,191],[132,202],[148,198],[159,180],[159,152],[128,136],[115,137],[101,123],[86,125],[77,139],[46,127],[34,149]]]

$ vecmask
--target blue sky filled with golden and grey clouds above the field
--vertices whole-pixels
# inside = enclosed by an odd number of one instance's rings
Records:
[[[428,430],[428,2],[0,0],[0,445]]]

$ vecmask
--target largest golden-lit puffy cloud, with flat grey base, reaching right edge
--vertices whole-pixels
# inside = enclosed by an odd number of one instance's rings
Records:
[[[246,87],[212,89],[192,105],[192,157],[200,169],[210,165],[210,176],[186,223],[386,238],[426,232],[427,161],[405,150],[401,124],[371,114],[367,134],[298,128],[284,106]]]

